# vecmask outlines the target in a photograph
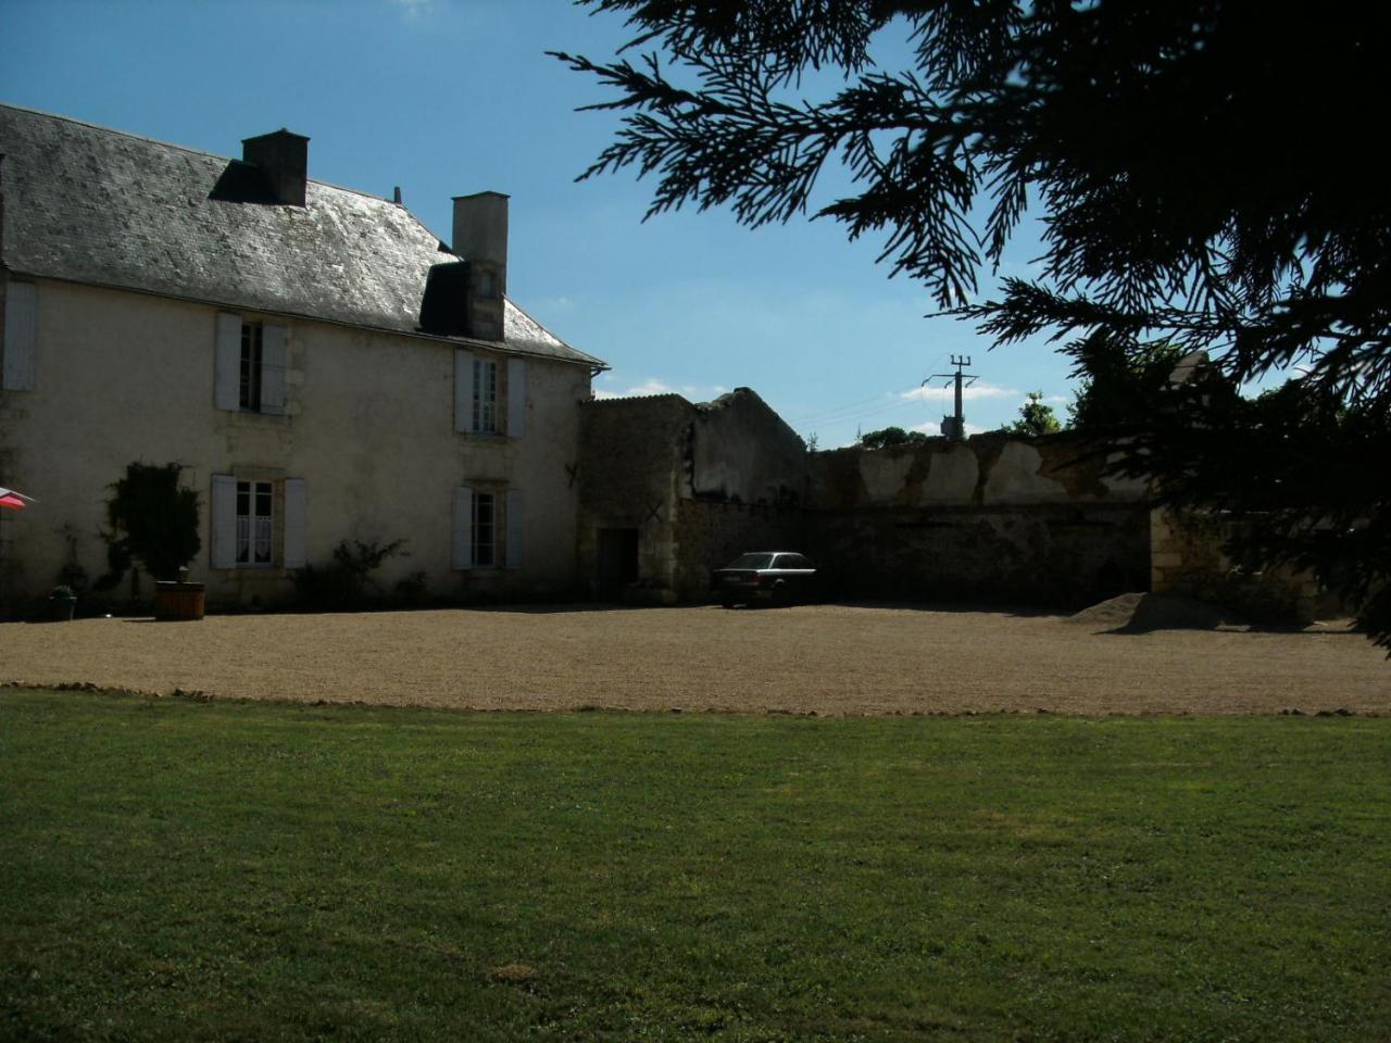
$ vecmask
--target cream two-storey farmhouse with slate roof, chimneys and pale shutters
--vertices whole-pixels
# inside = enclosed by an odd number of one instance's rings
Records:
[[[605,364],[508,298],[508,197],[444,243],[399,200],[307,177],[281,129],[241,159],[0,106],[0,609],[106,570],[131,462],[200,499],[189,580],[284,601],[345,540],[445,599],[569,592],[579,403]],[[147,594],[147,590],[146,590]]]

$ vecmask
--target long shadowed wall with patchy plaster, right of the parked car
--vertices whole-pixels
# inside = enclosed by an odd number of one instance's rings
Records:
[[[976,435],[811,460],[811,552],[851,597],[1084,604],[1149,580],[1142,483],[1068,438]]]

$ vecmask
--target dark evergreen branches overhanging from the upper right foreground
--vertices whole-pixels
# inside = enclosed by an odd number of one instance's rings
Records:
[[[729,206],[761,225],[811,210],[851,238],[883,234],[892,273],[997,345],[1052,337],[1096,401],[1102,357],[1145,371],[1156,341],[1207,350],[1202,380],[1111,413],[1107,432],[1125,439],[1114,466],[1153,478],[1164,502],[1232,513],[1246,552],[1360,597],[1391,644],[1391,192],[1369,117],[1391,13],[584,1],[625,15],[630,46],[652,53],[559,56],[615,90],[595,108],[623,113],[583,177],[651,177],[648,216]],[[893,31],[911,68],[871,58]],[[817,96],[828,81],[814,70],[844,79]],[[835,163],[851,188],[818,206]],[[967,306],[1031,209],[1046,218],[1039,278]],[[1281,375],[1292,387],[1274,401],[1237,394]]]

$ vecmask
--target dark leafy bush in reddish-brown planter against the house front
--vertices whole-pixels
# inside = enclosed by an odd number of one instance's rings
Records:
[[[156,619],[202,619],[202,583],[188,583],[188,563],[202,547],[198,537],[198,494],[181,488],[177,463],[131,463],[111,485],[106,503],[106,541],[114,585],[139,562],[154,577]]]

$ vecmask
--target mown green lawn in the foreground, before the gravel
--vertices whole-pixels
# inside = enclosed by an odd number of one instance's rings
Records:
[[[0,691],[0,1037],[1365,1040],[1391,720]]]

